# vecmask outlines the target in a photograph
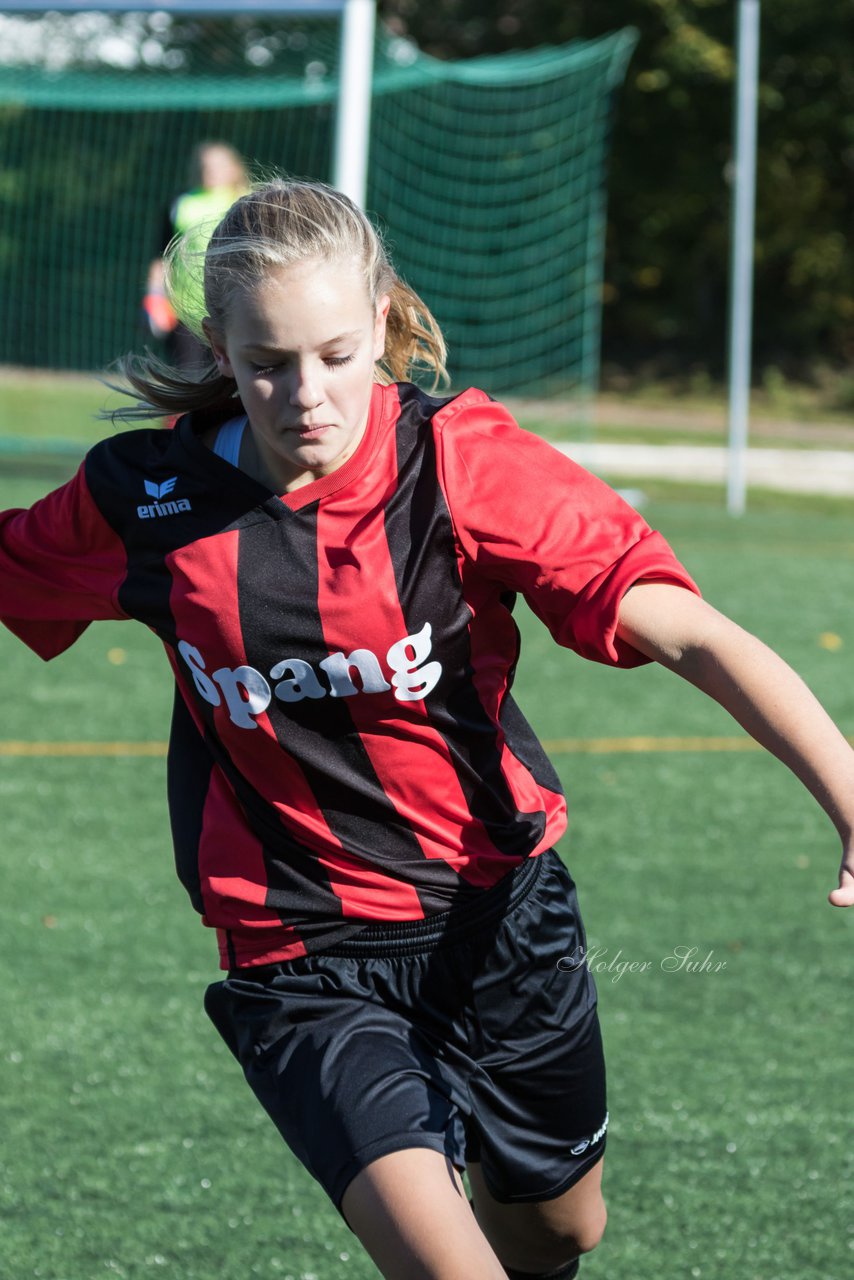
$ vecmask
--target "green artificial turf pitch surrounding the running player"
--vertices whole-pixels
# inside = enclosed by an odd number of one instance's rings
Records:
[[[6,477],[0,506],[45,488]],[[731,521],[657,492],[645,513],[707,596],[854,733],[848,504],[767,497]],[[583,1275],[845,1280],[854,913],[826,902],[835,833],[758,751],[584,750],[740,733],[662,669],[583,663],[521,623],[520,701],[570,796],[561,851],[602,965],[611,1221]],[[4,631],[0,669],[0,1275],[375,1276],[202,1014],[214,940],[170,867],[164,759],[8,745],[161,742],[156,643],[104,623],[44,666]],[[680,948],[705,965],[673,972]]]

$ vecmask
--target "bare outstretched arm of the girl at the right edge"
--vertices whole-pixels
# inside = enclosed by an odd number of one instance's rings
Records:
[[[772,649],[682,588],[641,581],[617,635],[714,698],[813,794],[842,841],[834,906],[854,906],[854,750]]]

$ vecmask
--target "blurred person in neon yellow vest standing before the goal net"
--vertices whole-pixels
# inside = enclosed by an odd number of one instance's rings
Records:
[[[191,189],[178,196],[169,209],[163,244],[165,248],[174,236],[189,233],[187,243],[192,241],[192,248],[201,261],[218,221],[250,189],[250,179],[242,156],[229,143],[200,142],[191,159]],[[181,268],[173,268],[169,285],[172,298],[179,302],[179,310],[186,314],[186,308],[192,307],[193,280]],[[202,300],[198,301],[201,306]],[[210,358],[206,348],[175,314],[166,293],[163,257],[156,257],[149,268],[142,308],[152,337],[165,343],[169,364],[187,369]]]

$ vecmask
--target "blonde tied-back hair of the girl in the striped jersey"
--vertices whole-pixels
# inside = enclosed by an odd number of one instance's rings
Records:
[[[181,321],[202,343],[202,319],[225,333],[233,300],[262,283],[277,268],[307,261],[348,261],[361,270],[373,307],[391,298],[385,351],[374,367],[376,381],[406,381],[412,372],[433,372],[434,387],[447,379],[442,332],[421,298],[391,264],[383,241],[365,214],[342,192],[320,182],[274,179],[241,196],[214,229],[205,250],[197,230],[177,237],[166,250],[166,292]],[[237,384],[220,374],[214,360],[196,370],[179,370],[152,356],[129,355],[118,361],[127,379],[122,388],[136,404],[113,417],[133,421],[163,413],[233,407]]]

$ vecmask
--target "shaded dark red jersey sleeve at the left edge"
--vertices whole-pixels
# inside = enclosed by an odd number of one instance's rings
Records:
[[[90,622],[124,618],[120,539],[77,475],[28,509],[0,512],[0,622],[41,658],[68,649]]]

